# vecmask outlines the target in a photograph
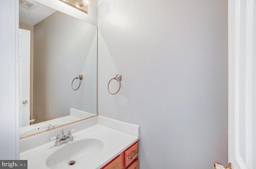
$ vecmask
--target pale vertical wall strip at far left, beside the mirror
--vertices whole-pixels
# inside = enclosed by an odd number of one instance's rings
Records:
[[[0,159],[19,159],[18,1],[0,6]]]

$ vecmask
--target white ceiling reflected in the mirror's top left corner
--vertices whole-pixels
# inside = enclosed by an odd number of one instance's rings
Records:
[[[32,2],[35,2],[35,1],[32,1]],[[44,20],[45,18],[47,18],[48,16],[56,12],[56,10],[48,6],[42,5],[38,2],[35,2],[35,3],[37,4],[37,6],[35,6],[32,9],[26,9],[22,6],[19,6],[20,22],[34,26],[38,22]]]

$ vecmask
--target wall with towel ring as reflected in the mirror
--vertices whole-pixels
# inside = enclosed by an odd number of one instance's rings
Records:
[[[40,122],[69,115],[70,108],[96,114],[96,72],[96,26],[61,12],[34,26],[33,106]]]

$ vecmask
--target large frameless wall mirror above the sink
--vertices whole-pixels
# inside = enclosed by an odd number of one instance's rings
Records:
[[[20,138],[97,115],[97,27],[31,2],[19,7]]]

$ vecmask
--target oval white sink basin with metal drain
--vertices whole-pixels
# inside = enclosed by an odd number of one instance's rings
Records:
[[[84,161],[90,161],[102,151],[103,143],[98,139],[83,139],[70,141],[60,147],[46,160],[46,165],[50,169],[70,169],[70,167],[82,169]],[[71,162],[74,164],[70,166],[70,161],[75,163]]]

